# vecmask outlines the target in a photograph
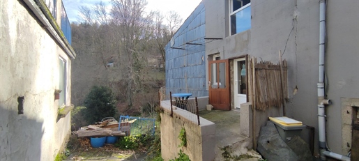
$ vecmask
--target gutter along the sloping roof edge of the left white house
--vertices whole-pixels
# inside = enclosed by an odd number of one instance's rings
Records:
[[[63,36],[63,32],[57,26],[56,22],[49,22],[49,16],[52,17],[52,15],[46,15],[44,13],[47,9],[47,6],[44,6],[43,1],[36,0],[38,3],[36,3],[33,0],[23,0],[26,5],[32,10],[33,14],[38,17],[38,20],[40,20],[41,23],[43,23],[44,28],[51,33],[51,35],[55,38],[55,40],[59,43],[61,48],[65,50],[66,54],[70,56],[70,58],[75,59],[76,53],[75,50],[71,47],[71,45],[68,43],[68,40]],[[39,8],[40,6],[40,8]]]

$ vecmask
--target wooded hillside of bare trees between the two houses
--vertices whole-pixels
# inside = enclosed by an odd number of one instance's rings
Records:
[[[165,60],[165,45],[181,18],[174,12],[166,16],[146,12],[144,0],[113,0],[111,6],[111,10],[103,3],[83,6],[81,22],[72,24],[72,47],[77,53],[72,61],[75,104],[93,85],[109,86],[128,107],[135,106],[139,94],[159,87],[157,78],[148,74],[153,65],[148,60],[158,56]]]

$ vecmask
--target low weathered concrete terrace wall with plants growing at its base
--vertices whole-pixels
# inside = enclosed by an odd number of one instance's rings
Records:
[[[190,160],[214,160],[215,158],[215,123],[200,117],[197,125],[197,116],[183,109],[174,109],[173,117],[169,100],[162,101],[164,112],[161,116],[161,153],[164,160],[178,158],[180,149],[190,157]],[[178,147],[181,144],[178,135],[185,128],[187,146]]]

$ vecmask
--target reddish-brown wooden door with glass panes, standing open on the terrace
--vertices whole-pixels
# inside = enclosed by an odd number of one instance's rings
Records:
[[[231,110],[228,59],[209,61],[208,69],[209,104],[213,109]]]

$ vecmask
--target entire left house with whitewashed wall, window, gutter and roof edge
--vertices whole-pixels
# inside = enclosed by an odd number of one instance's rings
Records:
[[[71,27],[61,0],[1,1],[0,160],[54,160],[70,136]]]

